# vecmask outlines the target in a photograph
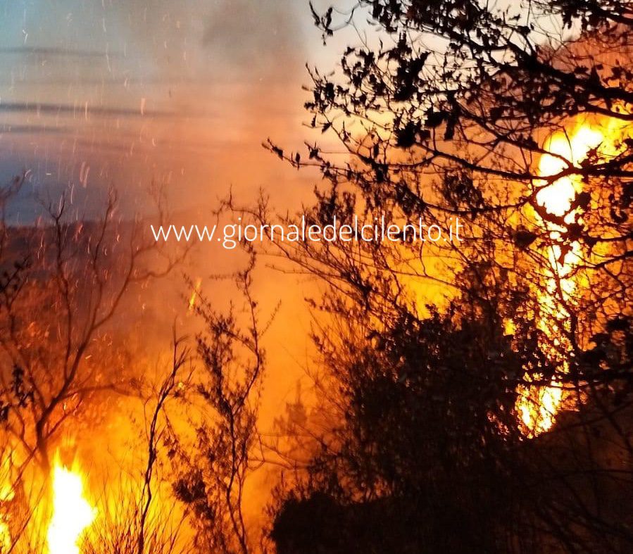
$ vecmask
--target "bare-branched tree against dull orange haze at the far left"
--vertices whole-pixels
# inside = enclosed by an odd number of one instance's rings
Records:
[[[66,220],[66,199],[48,206],[43,229],[11,229],[13,248],[32,248],[32,265],[22,284],[0,306],[4,427],[20,451],[20,463],[35,460],[49,472],[49,442],[87,394],[113,386],[96,377],[108,359],[106,326],[130,286],[170,271],[148,265],[155,246],[137,222],[124,229],[115,220],[111,194],[96,222]],[[18,234],[22,236],[18,236]],[[125,237],[125,239],[124,239]],[[114,258],[117,258],[116,263]],[[37,259],[37,263],[35,260]],[[41,306],[54,309],[43,313]]]

